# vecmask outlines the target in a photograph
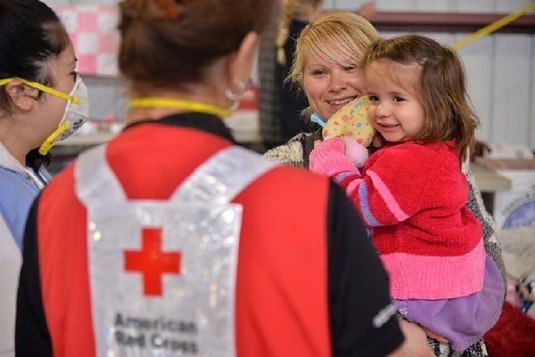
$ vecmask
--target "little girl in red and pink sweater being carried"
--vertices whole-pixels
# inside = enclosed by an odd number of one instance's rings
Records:
[[[368,116],[386,144],[361,174],[343,139],[326,140],[310,170],[340,183],[372,228],[399,312],[461,353],[496,323],[504,296],[481,223],[465,207],[461,163],[477,118],[462,63],[430,38],[403,36],[375,42],[362,70]]]

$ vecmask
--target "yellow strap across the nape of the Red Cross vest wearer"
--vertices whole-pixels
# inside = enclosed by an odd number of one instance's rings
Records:
[[[202,101],[188,101],[185,99],[171,99],[161,97],[136,98],[130,101],[130,108],[172,108],[181,110],[191,110],[198,113],[217,115],[218,117],[230,117],[231,110],[227,110],[218,105],[205,103]]]

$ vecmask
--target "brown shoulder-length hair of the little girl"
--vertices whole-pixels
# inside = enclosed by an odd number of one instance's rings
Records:
[[[457,140],[459,158],[475,142],[475,115],[466,93],[465,68],[453,50],[429,37],[406,35],[380,39],[364,55],[361,67],[374,61],[394,61],[421,66],[416,93],[425,110],[424,130],[416,137],[420,142]]]

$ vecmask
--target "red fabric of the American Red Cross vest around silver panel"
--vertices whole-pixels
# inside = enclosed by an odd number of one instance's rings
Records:
[[[196,166],[229,145],[193,129],[144,124],[113,140],[107,158],[128,199],[167,199]],[[235,301],[238,357],[331,355],[327,197],[327,179],[277,167],[233,201],[243,205]],[[54,356],[95,357],[86,208],[74,191],[73,166],[43,192],[37,224]]]

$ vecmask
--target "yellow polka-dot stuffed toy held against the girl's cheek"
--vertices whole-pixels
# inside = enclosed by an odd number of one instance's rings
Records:
[[[364,166],[368,158],[366,147],[375,134],[367,116],[369,104],[366,96],[350,101],[329,118],[322,131],[324,140],[343,137],[345,154],[357,167]]]

